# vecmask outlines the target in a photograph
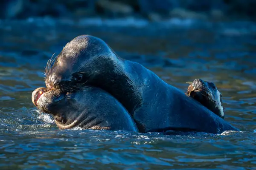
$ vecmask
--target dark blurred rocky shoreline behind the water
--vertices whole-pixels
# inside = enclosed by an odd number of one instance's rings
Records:
[[[255,20],[256,0],[2,0],[1,19],[141,17]]]

